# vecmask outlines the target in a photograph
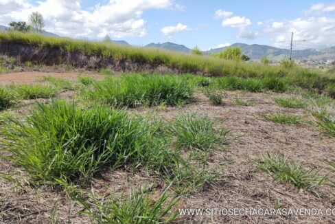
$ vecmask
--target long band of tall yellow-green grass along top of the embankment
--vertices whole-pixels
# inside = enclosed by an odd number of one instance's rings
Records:
[[[192,72],[209,74],[211,76],[240,76],[243,78],[284,78],[291,85],[307,89],[325,89],[326,85],[335,83],[335,78],[330,74],[323,74],[319,70],[303,69],[301,67],[281,67],[262,65],[259,63],[242,63],[233,60],[223,60],[209,56],[198,56],[194,54],[181,54],[168,52],[159,49],[143,49],[139,47],[129,47],[115,45],[113,43],[96,43],[90,41],[78,41],[69,38],[56,38],[42,36],[39,34],[23,34],[20,32],[1,32],[1,43],[18,43],[33,45],[36,47],[55,47],[67,52],[83,52],[84,54],[94,54],[101,58],[114,58],[116,60],[131,60],[141,65],[164,65],[181,72]],[[64,63],[63,58],[53,58]],[[75,63],[75,62],[73,62]],[[256,82],[251,80],[251,82]],[[264,81],[263,86],[275,91],[282,91],[282,88],[274,88],[274,80],[268,83]],[[259,91],[259,84],[253,91]],[[276,84],[276,86],[278,86]]]

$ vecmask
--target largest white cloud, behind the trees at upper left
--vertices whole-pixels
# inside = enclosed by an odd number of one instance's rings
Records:
[[[0,23],[27,21],[29,15],[40,12],[45,18],[45,30],[62,36],[97,38],[145,36],[144,11],[170,8],[172,0],[110,0],[83,10],[80,0],[45,0],[32,5],[27,0],[0,0]]]

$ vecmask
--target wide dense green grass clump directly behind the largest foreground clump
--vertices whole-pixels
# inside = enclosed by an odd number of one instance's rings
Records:
[[[193,98],[193,88],[178,76],[124,75],[97,82],[86,97],[115,107],[181,105]]]

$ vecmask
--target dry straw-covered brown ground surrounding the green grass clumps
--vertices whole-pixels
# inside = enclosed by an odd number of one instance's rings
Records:
[[[40,76],[41,74],[35,74]],[[12,74],[11,74],[12,76]],[[65,74],[59,74],[65,76]],[[21,75],[23,77],[23,74]],[[41,77],[41,76],[40,76]],[[2,77],[1,77],[2,78]],[[0,78],[0,80],[2,80]],[[20,79],[19,79],[20,80]],[[23,80],[23,78],[21,78]],[[280,94],[285,95],[285,94]],[[233,98],[257,102],[253,107],[236,106]],[[275,181],[257,169],[257,159],[266,156],[268,151],[280,152],[290,161],[299,161],[305,168],[330,172],[325,162],[334,158],[335,140],[319,133],[310,124],[281,125],[266,122],[258,117],[261,113],[276,111],[306,116],[303,109],[284,109],[275,106],[274,93],[227,93],[224,105],[213,106],[202,94],[184,107],[155,107],[131,109],[132,113],[154,114],[164,120],[171,120],[180,113],[196,112],[215,120],[224,120],[222,126],[231,129],[231,141],[211,157],[211,163],[220,164],[225,176],[199,192],[183,197],[177,208],[316,208],[325,211],[334,209],[330,192],[334,188],[321,186],[321,198],[312,192],[297,190],[288,183]],[[306,116],[307,117],[307,116]],[[307,119],[307,118],[306,118]],[[2,155],[3,156],[3,155]],[[22,175],[19,168],[0,159],[0,173]],[[15,176],[14,176],[15,177]],[[146,172],[119,170],[106,172],[103,179],[94,179],[92,188],[102,196],[110,192],[128,192],[135,186],[152,186],[158,191],[165,183]],[[334,174],[330,179],[335,179]],[[0,222],[3,223],[50,223],[56,217],[59,223],[91,223],[80,214],[78,205],[67,200],[62,192],[47,188],[27,186],[20,179],[22,187],[0,179]],[[90,189],[89,189],[90,190]],[[181,223],[334,223],[335,216],[180,216]]]

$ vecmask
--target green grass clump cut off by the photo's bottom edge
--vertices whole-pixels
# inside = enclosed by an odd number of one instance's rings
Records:
[[[100,201],[93,195],[92,202],[78,200],[86,214],[96,223],[173,223],[178,212],[172,212],[178,199],[163,192],[159,198],[149,190],[131,190],[128,196],[117,195]]]

